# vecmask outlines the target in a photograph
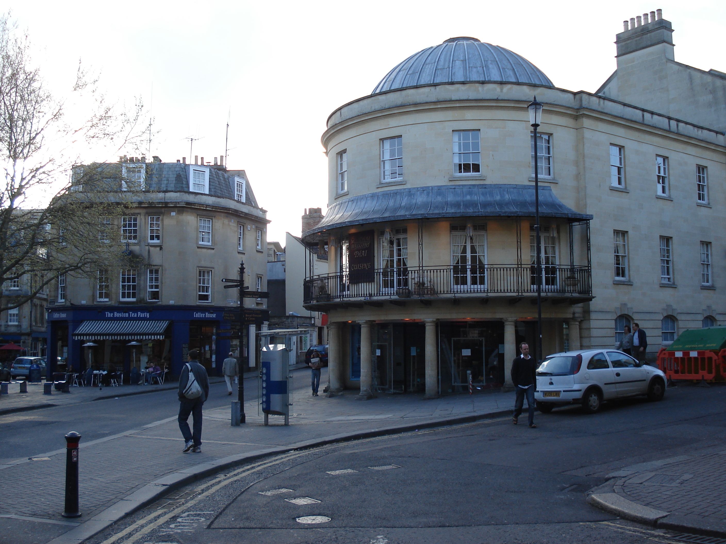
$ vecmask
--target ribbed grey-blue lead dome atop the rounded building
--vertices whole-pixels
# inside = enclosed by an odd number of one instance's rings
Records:
[[[504,47],[461,36],[412,54],[393,68],[371,94],[460,81],[513,81],[553,86],[542,70],[524,57]]]

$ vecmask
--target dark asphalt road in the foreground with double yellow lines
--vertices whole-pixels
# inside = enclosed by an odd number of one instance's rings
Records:
[[[287,453],[173,492],[91,542],[676,542],[589,506],[584,490],[621,466],[722,442],[725,400],[726,387],[678,387],[595,416],[558,409],[537,429],[504,418]]]

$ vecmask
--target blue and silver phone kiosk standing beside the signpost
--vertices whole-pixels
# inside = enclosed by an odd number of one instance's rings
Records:
[[[285,425],[290,424],[290,377],[285,344],[264,345],[260,365],[260,398],[265,425],[269,424],[270,414],[285,416]]]

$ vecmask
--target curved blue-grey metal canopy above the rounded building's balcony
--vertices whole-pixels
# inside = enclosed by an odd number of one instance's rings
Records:
[[[555,196],[549,186],[539,187],[539,215],[569,221],[590,221]],[[335,202],[325,218],[303,239],[312,241],[324,230],[363,223],[418,218],[534,217],[534,185],[467,184],[391,189]]]

